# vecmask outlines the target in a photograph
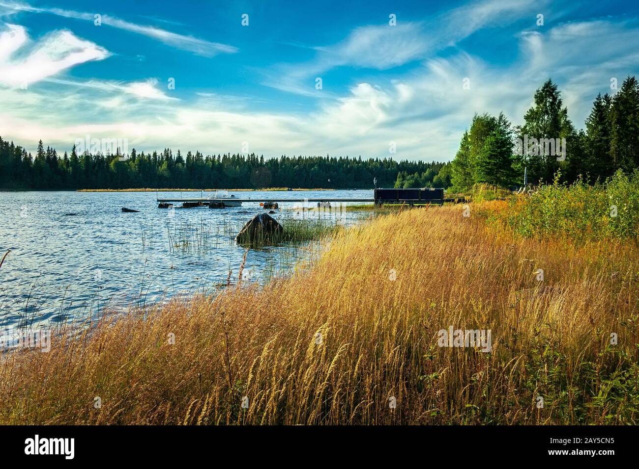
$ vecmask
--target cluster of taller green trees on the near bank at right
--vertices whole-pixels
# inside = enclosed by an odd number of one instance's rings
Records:
[[[461,138],[451,163],[452,190],[474,184],[506,188],[527,182],[551,182],[558,173],[563,182],[583,179],[603,182],[617,170],[627,174],[639,168],[639,82],[628,77],[612,96],[599,94],[585,121],[576,130],[568,117],[561,93],[551,80],[534,94],[534,104],[523,116],[523,125],[512,126],[504,114],[475,114]],[[546,148],[527,145],[515,151],[516,142],[561,140],[562,151],[546,154]],[[518,154],[520,153],[520,154]]]

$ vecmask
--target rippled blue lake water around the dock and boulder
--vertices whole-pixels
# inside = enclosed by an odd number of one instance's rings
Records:
[[[233,238],[272,198],[372,198],[371,190],[236,191],[251,198],[226,209],[160,209],[155,192],[0,192],[0,327],[95,318],[104,308],[164,301],[226,284],[245,248]],[[208,197],[207,193],[204,193]],[[201,197],[160,192],[157,197]],[[303,211],[280,203],[273,218],[321,218],[351,225],[361,212]],[[313,204],[309,204],[313,206]],[[335,207],[335,204],[332,204]],[[139,210],[125,213],[121,207]],[[298,209],[295,209],[298,207]],[[243,278],[265,281],[317,255],[316,243],[250,249]]]

